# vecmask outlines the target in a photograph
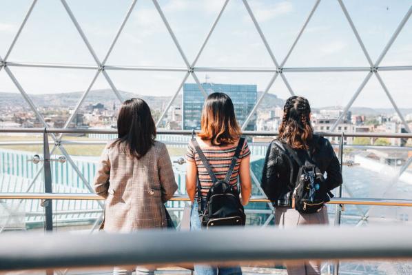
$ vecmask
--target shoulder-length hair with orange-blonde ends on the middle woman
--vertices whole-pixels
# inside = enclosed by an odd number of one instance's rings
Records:
[[[212,145],[235,143],[241,134],[231,99],[223,92],[207,96],[203,105],[201,131],[198,136]]]

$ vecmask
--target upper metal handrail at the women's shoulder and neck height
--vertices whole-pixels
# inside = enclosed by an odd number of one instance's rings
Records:
[[[43,133],[44,128],[3,128],[0,133]],[[78,129],[78,128],[47,128],[50,134],[117,134],[116,129]],[[158,134],[192,134],[192,130],[158,130]],[[317,132],[322,136],[342,136],[341,132]],[[245,136],[277,136],[278,132],[243,131]],[[385,137],[385,138],[412,138],[412,133],[386,133],[386,132],[344,132],[348,137]]]

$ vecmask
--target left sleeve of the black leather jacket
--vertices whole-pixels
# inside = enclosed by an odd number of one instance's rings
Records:
[[[278,200],[282,190],[289,184],[289,164],[283,158],[282,152],[272,141],[267,149],[263,165],[261,186],[271,201]]]

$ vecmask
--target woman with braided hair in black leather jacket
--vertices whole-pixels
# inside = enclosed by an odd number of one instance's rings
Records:
[[[302,96],[291,96],[283,108],[282,123],[279,127],[278,140],[286,143],[294,150],[299,159],[311,156],[320,171],[326,172],[328,191],[342,184],[340,164],[331,143],[322,136],[313,134],[310,116],[311,108],[307,99]],[[280,227],[295,227],[307,224],[327,224],[326,207],[313,214],[301,214],[293,209],[291,195],[293,194],[299,165],[293,158],[287,156],[285,150],[272,141],[267,150],[262,173],[262,189],[272,201],[275,208],[275,223]],[[293,170],[291,170],[291,165]],[[293,175],[291,177],[291,172]],[[292,180],[291,180],[292,179]],[[288,274],[320,274],[320,263],[309,261],[299,265],[287,266]]]

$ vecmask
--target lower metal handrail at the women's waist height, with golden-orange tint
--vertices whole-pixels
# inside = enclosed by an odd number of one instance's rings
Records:
[[[71,193],[0,193],[0,199],[40,199],[40,200],[90,200],[103,201],[105,198],[97,194],[71,194]],[[170,201],[190,201],[188,196],[174,195]],[[270,203],[265,196],[252,196],[251,203]],[[380,205],[380,206],[406,206],[412,207],[412,200],[393,198],[331,198],[331,205]]]

